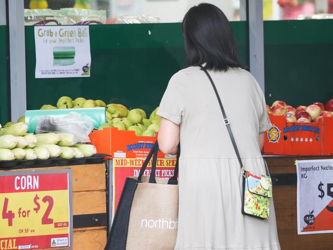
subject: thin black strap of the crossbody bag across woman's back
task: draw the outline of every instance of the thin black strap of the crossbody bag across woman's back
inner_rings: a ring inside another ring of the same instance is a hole
[[[207,75],[207,77],[208,77],[208,79],[209,79],[209,81],[211,83],[211,86],[214,89],[216,97],[218,98],[218,102],[220,104],[220,108],[221,108],[222,115],[223,115],[223,121],[224,121],[225,126],[227,127],[227,130],[228,130],[228,133],[229,133],[229,137],[230,137],[233,149],[236,152],[236,156],[237,156],[237,159],[238,159],[239,164],[241,166],[242,174],[243,174],[244,173],[244,167],[243,167],[243,163],[242,163],[242,160],[241,160],[241,156],[239,154],[239,151],[238,151],[238,148],[237,148],[237,145],[236,145],[236,141],[234,140],[234,137],[233,137],[233,134],[232,134],[232,131],[231,131],[231,127],[230,127],[230,122],[229,122],[229,119],[227,118],[227,115],[226,115],[225,110],[223,108],[219,92],[218,92],[218,90],[217,90],[217,88],[216,88],[213,80],[211,79],[211,76],[208,73],[208,71],[202,65],[200,65],[200,68],[206,73],[206,75]],[[264,162],[265,162],[265,160],[264,160]],[[265,162],[265,170],[266,170],[266,175],[269,175],[266,162]]]

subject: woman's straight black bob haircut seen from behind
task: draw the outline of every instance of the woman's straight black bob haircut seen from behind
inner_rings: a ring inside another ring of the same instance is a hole
[[[189,66],[206,63],[205,68],[214,71],[242,67],[230,23],[215,5],[200,4],[190,8],[182,28]]]

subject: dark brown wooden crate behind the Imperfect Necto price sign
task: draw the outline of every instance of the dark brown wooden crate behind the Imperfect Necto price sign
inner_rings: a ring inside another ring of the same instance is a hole
[[[285,174],[296,174],[295,160],[331,159],[325,156],[265,157],[270,174],[287,178]],[[289,175],[290,176],[290,175]],[[283,182],[283,180],[281,180]],[[274,182],[274,180],[273,180]],[[331,234],[297,234],[297,186],[273,186],[273,200],[277,218],[278,235],[283,250],[332,250]]]

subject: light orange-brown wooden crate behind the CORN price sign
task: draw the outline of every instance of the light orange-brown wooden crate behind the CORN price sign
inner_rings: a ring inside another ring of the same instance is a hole
[[[40,169],[72,169],[73,186],[73,249],[99,250],[106,245],[106,226],[75,227],[75,220],[89,218],[89,215],[106,217],[106,166],[105,164],[73,165],[13,169],[29,171]],[[89,224],[89,223],[87,223]],[[49,249],[60,249],[52,247]]]

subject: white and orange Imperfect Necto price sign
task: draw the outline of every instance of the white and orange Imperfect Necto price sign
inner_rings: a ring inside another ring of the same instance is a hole
[[[296,165],[298,234],[333,233],[333,159]]]

